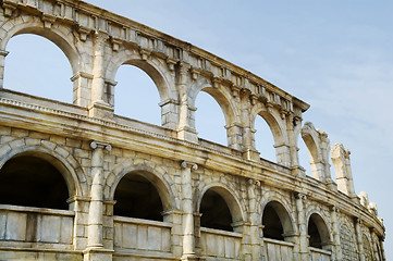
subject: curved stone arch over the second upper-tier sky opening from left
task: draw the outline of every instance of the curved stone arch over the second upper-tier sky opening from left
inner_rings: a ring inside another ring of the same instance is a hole
[[[161,102],[169,99],[177,100],[173,89],[175,84],[172,73],[169,72],[167,64],[157,58],[149,57],[144,60],[136,50],[121,49],[114,53],[113,58],[107,66],[107,78],[114,80],[119,67],[123,64],[134,65],[144,71],[155,82]]]

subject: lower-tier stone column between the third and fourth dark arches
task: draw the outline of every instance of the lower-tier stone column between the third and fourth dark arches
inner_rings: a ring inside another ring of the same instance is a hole
[[[250,236],[250,253],[251,260],[263,260],[265,254],[261,249],[263,246],[263,237],[260,235],[261,216],[257,210],[256,189],[260,185],[259,182],[248,179],[248,204],[249,204],[249,236]]]

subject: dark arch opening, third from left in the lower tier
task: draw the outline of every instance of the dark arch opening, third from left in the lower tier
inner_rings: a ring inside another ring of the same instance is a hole
[[[233,232],[232,214],[224,198],[213,189],[205,192],[199,208],[200,226]]]

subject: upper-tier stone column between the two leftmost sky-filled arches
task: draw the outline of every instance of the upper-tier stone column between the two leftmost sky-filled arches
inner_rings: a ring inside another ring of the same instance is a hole
[[[113,115],[113,107],[109,105],[106,97],[105,48],[108,39],[107,33],[101,30],[95,33],[90,116],[108,117]]]

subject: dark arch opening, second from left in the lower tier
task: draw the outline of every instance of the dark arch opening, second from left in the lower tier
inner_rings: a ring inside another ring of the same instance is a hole
[[[114,215],[163,221],[163,203],[159,189],[143,172],[122,177],[114,191]]]

